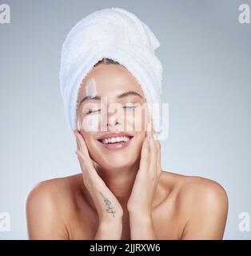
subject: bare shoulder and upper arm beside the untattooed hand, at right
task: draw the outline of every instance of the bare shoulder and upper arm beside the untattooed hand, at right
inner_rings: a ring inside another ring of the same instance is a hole
[[[175,194],[177,214],[185,223],[183,239],[221,239],[228,213],[225,189],[208,178],[164,174]]]

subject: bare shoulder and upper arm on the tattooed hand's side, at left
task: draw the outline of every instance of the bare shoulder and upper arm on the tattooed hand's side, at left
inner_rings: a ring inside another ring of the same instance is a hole
[[[39,182],[26,197],[30,239],[68,238],[66,218],[74,204],[78,175]]]

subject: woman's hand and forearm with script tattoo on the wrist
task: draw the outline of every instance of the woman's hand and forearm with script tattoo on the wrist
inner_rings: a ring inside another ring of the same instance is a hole
[[[105,234],[109,234],[110,232],[113,232],[113,230],[116,230],[119,237],[121,235],[119,233],[122,231],[122,206],[95,170],[94,162],[90,158],[90,154],[82,134],[80,134],[78,130],[74,130],[74,134],[78,145],[78,150],[75,153],[78,155],[84,184],[93,199],[96,210],[98,211],[99,226]],[[116,228],[116,223],[118,224],[118,229]],[[113,230],[107,230],[111,227],[113,227]],[[112,239],[116,239],[118,237],[114,238],[110,236]],[[102,239],[105,238],[107,238],[107,236],[102,237]]]

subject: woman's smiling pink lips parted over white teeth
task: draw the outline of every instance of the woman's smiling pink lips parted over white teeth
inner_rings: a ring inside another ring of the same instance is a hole
[[[132,134],[125,132],[107,133],[98,137],[98,142],[107,150],[122,150],[129,146],[129,142],[133,138]]]

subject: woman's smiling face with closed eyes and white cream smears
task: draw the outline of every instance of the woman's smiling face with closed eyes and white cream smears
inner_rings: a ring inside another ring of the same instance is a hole
[[[149,118],[145,96],[125,67],[99,64],[78,94],[78,130],[104,169],[132,166],[141,155]]]

